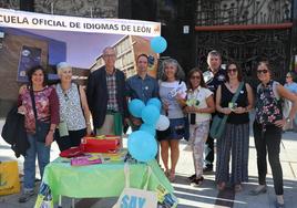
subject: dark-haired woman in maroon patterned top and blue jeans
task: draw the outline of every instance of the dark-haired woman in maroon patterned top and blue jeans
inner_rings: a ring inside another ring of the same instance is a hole
[[[55,126],[59,123],[59,100],[54,87],[47,85],[47,74],[42,66],[28,72],[29,85],[20,90],[19,113],[24,114],[24,127],[30,144],[23,163],[23,194],[19,202],[28,201],[34,195],[35,157],[41,177],[50,163],[50,149]],[[44,134],[38,128],[44,126]]]

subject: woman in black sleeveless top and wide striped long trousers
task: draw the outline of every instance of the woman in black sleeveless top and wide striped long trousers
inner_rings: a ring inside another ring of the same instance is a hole
[[[227,65],[226,83],[216,91],[216,110],[223,117],[228,115],[225,131],[217,139],[216,183],[219,190],[224,190],[227,183],[234,186],[235,191],[242,190],[242,183],[248,180],[248,138],[249,117],[253,108],[253,91],[249,84],[244,83],[238,65],[231,62]],[[233,96],[239,90],[237,100],[232,103]],[[232,155],[232,174],[229,176],[229,157]]]

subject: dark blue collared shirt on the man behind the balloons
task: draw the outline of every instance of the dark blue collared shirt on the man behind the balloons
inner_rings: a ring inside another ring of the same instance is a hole
[[[132,100],[139,98],[146,103],[150,98],[158,96],[157,81],[150,75],[145,75],[143,80],[136,74],[127,79],[126,92]]]

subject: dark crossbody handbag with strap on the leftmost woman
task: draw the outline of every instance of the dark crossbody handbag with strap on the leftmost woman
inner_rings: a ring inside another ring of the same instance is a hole
[[[35,106],[35,98],[34,93],[30,91],[31,100],[32,100],[32,107],[35,117],[35,137],[38,142],[45,143],[45,137],[50,131],[51,124],[49,122],[43,122],[38,119],[37,115],[37,106]]]

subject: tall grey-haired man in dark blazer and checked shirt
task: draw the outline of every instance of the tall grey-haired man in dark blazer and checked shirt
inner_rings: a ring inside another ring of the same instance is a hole
[[[114,67],[113,48],[103,50],[105,65],[90,74],[86,100],[96,135],[122,135],[124,118],[129,117],[125,98],[125,75]]]

